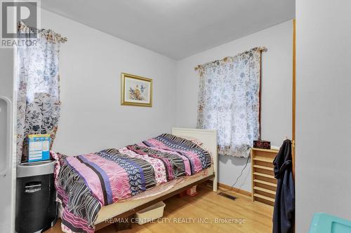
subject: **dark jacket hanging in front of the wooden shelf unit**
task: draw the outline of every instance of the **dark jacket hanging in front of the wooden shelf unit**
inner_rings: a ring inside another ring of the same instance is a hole
[[[295,221],[295,185],[290,140],[284,141],[273,164],[274,176],[278,180],[274,202],[273,233],[292,233]]]

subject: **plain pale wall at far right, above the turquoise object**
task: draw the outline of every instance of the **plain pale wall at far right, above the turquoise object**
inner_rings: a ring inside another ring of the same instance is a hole
[[[296,1],[296,223],[351,220],[351,1]]]

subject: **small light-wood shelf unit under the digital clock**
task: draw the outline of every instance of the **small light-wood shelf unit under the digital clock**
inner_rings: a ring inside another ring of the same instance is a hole
[[[277,179],[274,178],[273,160],[278,150],[251,149],[252,201],[274,206]]]

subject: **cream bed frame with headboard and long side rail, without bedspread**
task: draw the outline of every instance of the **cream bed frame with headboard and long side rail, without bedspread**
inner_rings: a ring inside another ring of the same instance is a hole
[[[166,136],[169,135],[170,134]],[[101,208],[98,210],[97,216],[93,220],[93,224],[90,226],[91,228],[89,228],[89,230],[85,230],[84,232],[94,232],[94,230],[100,230],[101,228],[106,227],[107,225],[116,223],[116,220],[118,220],[119,218],[126,218],[128,216],[131,216],[137,211],[145,209],[148,206],[151,206],[152,204],[160,202],[164,199],[168,199],[173,195],[183,192],[184,190],[187,190],[188,188],[191,188],[194,185],[198,185],[199,183],[203,183],[204,181],[208,181],[210,179],[213,180],[213,191],[217,191],[218,154],[216,130],[173,128],[171,135],[180,138],[192,138],[201,141],[201,148],[206,150],[211,155],[211,166],[201,169],[201,171],[197,171],[196,173],[191,174],[191,176],[181,176],[173,178],[171,181],[154,186],[154,188],[145,190],[144,192],[138,193],[138,195],[135,195],[133,197],[120,199],[118,202],[114,202],[113,204],[102,205]],[[59,194],[60,192],[58,190],[58,196],[60,196]],[[64,199],[62,196],[58,198],[58,202],[62,203],[62,199]],[[87,207],[87,209],[88,208],[89,207]],[[60,212],[62,213],[61,205]],[[75,221],[79,221],[79,219],[74,219],[71,222],[74,223]],[[69,223],[67,223],[67,221],[64,221],[63,219],[62,230],[64,232],[74,232],[72,230],[72,227],[69,226]]]

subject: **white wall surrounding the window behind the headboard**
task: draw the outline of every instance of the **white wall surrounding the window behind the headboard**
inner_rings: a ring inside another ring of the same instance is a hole
[[[195,66],[265,46],[268,50],[263,53],[262,139],[280,146],[285,135],[291,136],[292,26],[289,20],[178,61],[178,127],[195,127],[197,123],[199,78]],[[220,156],[219,182],[232,185],[245,163],[244,158]],[[237,184],[237,187],[251,192],[250,164]]]

